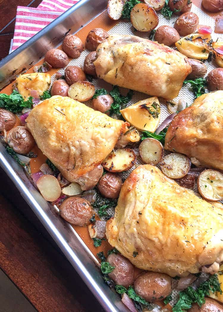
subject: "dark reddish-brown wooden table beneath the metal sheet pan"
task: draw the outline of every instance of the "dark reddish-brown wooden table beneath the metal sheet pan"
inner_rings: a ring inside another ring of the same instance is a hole
[[[0,60],[9,51],[17,5],[40,2],[0,0]],[[0,268],[18,289],[40,312],[104,311],[2,169],[0,190]]]

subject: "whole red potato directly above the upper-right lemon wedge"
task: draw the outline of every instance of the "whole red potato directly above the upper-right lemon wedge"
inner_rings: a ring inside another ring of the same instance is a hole
[[[179,16],[174,24],[174,28],[180,36],[187,36],[195,32],[199,23],[199,17],[193,12],[186,12]]]

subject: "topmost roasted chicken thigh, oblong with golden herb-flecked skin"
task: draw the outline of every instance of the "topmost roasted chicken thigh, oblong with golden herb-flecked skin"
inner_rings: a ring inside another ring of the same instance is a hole
[[[110,35],[97,47],[99,78],[120,87],[174,99],[192,69],[187,57],[136,36]]]

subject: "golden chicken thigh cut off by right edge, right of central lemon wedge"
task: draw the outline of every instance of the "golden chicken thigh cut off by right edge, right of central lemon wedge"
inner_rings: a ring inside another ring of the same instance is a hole
[[[223,169],[223,91],[201,95],[171,122],[165,149]]]

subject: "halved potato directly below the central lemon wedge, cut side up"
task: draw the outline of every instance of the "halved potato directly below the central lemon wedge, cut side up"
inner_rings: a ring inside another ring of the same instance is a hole
[[[163,151],[162,144],[156,139],[144,139],[139,145],[139,153],[142,161],[151,165],[161,162]]]

